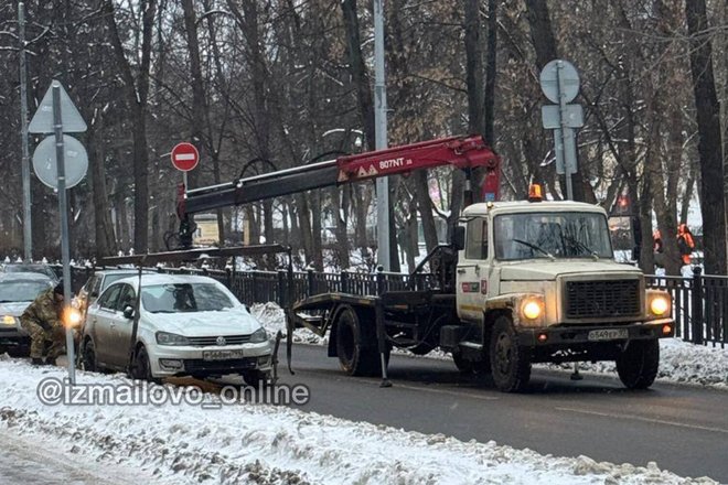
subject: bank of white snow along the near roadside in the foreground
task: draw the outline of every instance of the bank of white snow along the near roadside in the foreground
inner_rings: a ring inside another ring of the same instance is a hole
[[[0,434],[73,454],[79,468],[122,466],[144,483],[150,476],[160,484],[716,483],[683,478],[654,463],[640,467],[540,455],[285,407],[42,405],[41,379],[64,376],[61,368],[0,358]],[[128,382],[119,375],[83,371],[77,380]]]

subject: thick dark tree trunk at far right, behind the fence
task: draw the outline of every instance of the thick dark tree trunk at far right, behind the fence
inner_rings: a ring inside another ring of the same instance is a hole
[[[698,126],[703,247],[705,272],[726,273],[726,202],[724,195],[720,105],[713,76],[711,43],[705,39],[708,21],[705,0],[686,0],[685,14],[690,35],[690,72]]]

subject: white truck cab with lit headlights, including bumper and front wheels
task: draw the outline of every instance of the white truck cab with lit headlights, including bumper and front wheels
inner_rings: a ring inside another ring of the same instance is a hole
[[[674,332],[671,298],[614,261],[604,209],[473,204],[457,234],[460,324],[441,335],[458,367],[490,370],[505,391],[523,389],[531,364],[545,362],[614,360],[627,387],[653,382],[657,340]]]

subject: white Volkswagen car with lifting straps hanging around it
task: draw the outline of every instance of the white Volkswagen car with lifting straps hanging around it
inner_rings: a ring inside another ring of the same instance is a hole
[[[82,355],[88,370],[127,370],[139,278],[114,282],[88,308]],[[207,277],[143,274],[130,366],[136,378],[236,374],[270,377],[266,330],[222,283]]]

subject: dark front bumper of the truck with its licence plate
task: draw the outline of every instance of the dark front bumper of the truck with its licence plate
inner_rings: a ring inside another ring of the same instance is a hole
[[[675,336],[672,319],[627,325],[555,325],[540,328],[518,328],[518,344],[528,347],[569,346],[601,342],[625,342],[635,340],[667,338]]]

